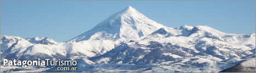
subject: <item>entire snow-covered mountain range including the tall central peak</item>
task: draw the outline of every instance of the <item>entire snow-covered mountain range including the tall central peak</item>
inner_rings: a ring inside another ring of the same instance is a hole
[[[1,65],[1,72],[219,72],[253,58],[255,71],[255,41],[254,33],[209,26],[170,28],[129,6],[67,42],[1,35],[1,59],[73,59],[77,71]]]

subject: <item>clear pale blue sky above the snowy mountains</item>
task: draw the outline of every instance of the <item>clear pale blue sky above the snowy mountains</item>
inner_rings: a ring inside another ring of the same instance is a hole
[[[255,33],[255,1],[1,1],[1,35],[68,41],[129,5],[169,27]]]

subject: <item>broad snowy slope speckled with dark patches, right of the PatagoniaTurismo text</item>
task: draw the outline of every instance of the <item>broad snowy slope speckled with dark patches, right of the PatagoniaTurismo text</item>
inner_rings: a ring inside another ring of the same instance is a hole
[[[127,42],[89,59],[107,64],[156,64],[172,71],[216,72],[225,69],[223,64],[226,67],[238,64],[240,58],[253,54],[252,49],[205,37],[151,37]],[[237,59],[222,62],[232,58]]]

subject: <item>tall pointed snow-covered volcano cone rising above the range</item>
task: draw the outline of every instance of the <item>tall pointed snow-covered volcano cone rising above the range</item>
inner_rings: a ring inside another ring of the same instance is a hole
[[[127,39],[139,39],[139,37],[147,36],[162,27],[164,25],[152,21],[136,9],[128,6],[126,9],[99,23],[91,30],[71,39],[71,41],[115,40],[119,38],[126,41]]]

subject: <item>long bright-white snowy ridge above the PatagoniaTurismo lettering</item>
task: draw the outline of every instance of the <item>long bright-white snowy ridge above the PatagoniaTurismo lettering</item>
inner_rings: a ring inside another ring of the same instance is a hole
[[[1,54],[2,57],[20,60],[32,60],[37,58],[86,58],[97,54],[100,55],[114,48],[114,42],[107,40],[56,43],[48,38],[34,41],[32,38],[24,39],[20,37],[4,36],[1,42],[1,51],[3,51]]]

